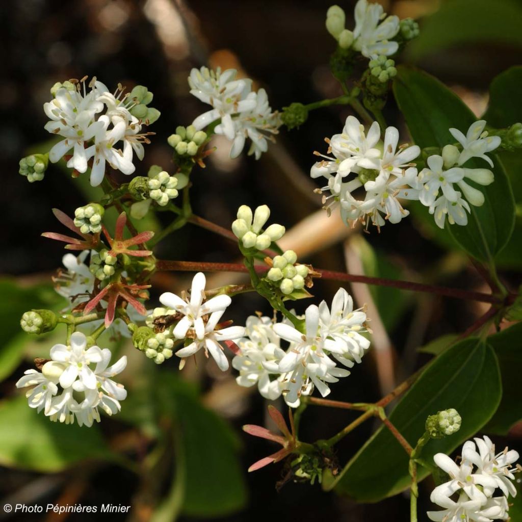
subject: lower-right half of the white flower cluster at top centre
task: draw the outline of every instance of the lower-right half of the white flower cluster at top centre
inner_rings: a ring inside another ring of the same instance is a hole
[[[248,93],[246,99],[254,100],[256,105],[251,111],[245,111],[233,118],[234,138],[230,157],[237,158],[245,146],[246,138],[250,138],[252,145],[248,150],[248,155],[254,154],[258,160],[268,149],[267,140],[274,141],[273,135],[278,134],[281,120],[277,112],[272,112],[265,89]],[[228,129],[223,123],[215,128],[216,134],[229,137],[226,132]]]

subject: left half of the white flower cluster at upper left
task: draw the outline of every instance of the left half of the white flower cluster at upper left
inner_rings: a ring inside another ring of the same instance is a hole
[[[45,124],[45,130],[65,137],[49,151],[51,162],[56,163],[74,147],[73,157],[67,162],[67,167],[85,172],[88,156],[84,144],[101,127],[101,124],[94,122],[94,116],[103,110],[103,103],[97,98],[107,88],[96,81],[96,78],[90,82],[89,92],[86,91],[85,81],[81,82],[81,85],[83,92],[80,83],[76,85],[75,90],[58,89],[56,97],[44,103],[43,110],[51,120]]]

